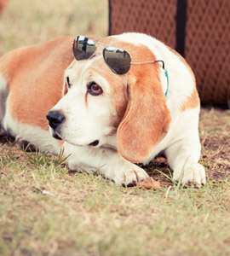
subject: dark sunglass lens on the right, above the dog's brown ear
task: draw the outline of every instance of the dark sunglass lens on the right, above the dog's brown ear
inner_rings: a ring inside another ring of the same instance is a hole
[[[124,49],[115,47],[106,47],[103,50],[103,56],[108,67],[113,73],[124,74],[129,71],[131,57]]]

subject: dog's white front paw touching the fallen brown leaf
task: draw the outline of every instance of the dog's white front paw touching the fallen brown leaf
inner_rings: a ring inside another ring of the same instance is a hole
[[[134,186],[148,177],[147,172],[135,164],[112,168],[103,173],[106,178],[119,185]]]

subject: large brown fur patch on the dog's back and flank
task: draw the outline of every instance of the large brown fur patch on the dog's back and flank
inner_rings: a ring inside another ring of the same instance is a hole
[[[48,130],[45,116],[61,98],[63,73],[73,59],[71,46],[72,37],[57,38],[3,56],[0,70],[4,66],[7,74],[13,119]]]

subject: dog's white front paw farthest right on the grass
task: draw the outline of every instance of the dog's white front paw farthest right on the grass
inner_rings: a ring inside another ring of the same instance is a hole
[[[182,184],[194,183],[201,184],[206,183],[204,166],[198,163],[188,163],[183,167],[181,172],[175,172],[173,179],[180,181]]]

